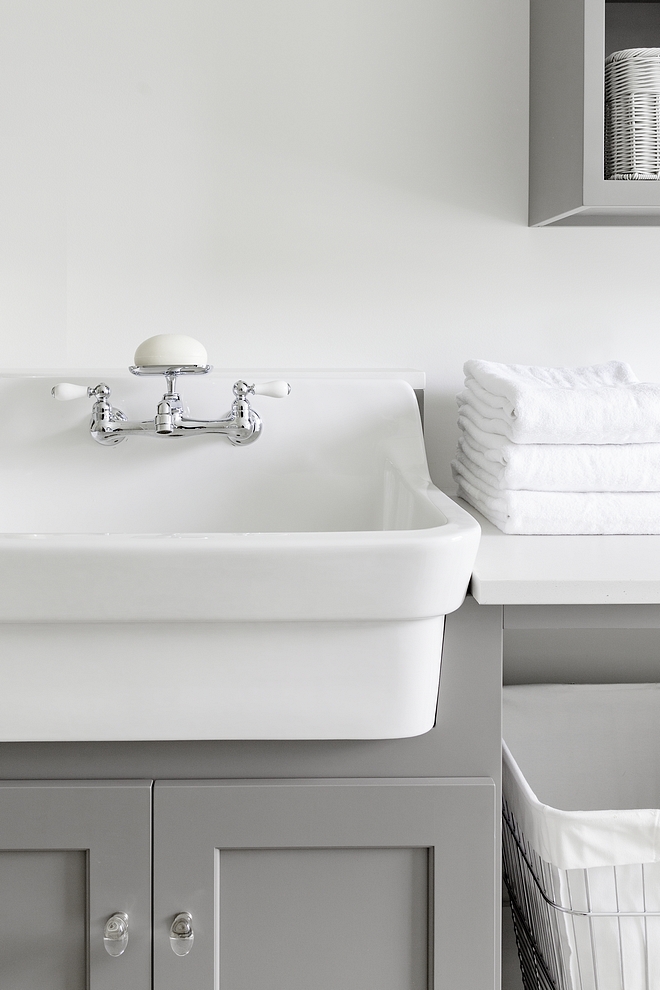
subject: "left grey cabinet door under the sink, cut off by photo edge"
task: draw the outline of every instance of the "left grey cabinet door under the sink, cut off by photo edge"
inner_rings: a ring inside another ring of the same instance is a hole
[[[119,911],[129,942],[111,958]],[[151,781],[0,783],[0,986],[149,990]]]

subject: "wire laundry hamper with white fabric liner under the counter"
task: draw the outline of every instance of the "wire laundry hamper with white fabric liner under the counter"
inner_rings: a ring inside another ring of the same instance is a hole
[[[503,757],[526,990],[659,990],[660,685],[506,687]]]

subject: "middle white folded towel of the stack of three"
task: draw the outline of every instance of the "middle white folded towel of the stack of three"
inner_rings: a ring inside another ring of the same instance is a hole
[[[457,460],[495,490],[660,490],[660,443],[516,444],[497,434],[476,431],[463,417],[459,426],[463,432]],[[498,444],[502,440],[505,442]]]

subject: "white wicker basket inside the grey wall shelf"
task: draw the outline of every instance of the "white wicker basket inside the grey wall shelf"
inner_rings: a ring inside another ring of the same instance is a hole
[[[660,179],[660,48],[605,60],[605,178]]]

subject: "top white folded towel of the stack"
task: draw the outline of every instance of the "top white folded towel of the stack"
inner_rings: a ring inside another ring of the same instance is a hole
[[[536,368],[467,361],[461,414],[514,443],[660,442],[660,385],[618,361]]]

